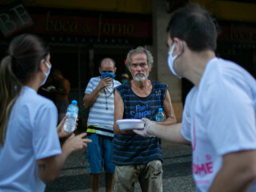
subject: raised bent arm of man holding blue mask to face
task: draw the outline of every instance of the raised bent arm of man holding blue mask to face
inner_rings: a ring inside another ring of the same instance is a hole
[[[91,92],[91,94],[85,94],[83,97],[83,106],[88,108],[94,104],[96,99],[98,98],[98,93],[104,89],[106,86],[110,86],[112,83],[112,79],[110,77],[102,78],[101,81],[98,83],[98,86]]]

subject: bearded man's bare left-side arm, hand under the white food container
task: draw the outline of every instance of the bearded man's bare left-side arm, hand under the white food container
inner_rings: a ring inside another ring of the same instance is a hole
[[[115,123],[117,120],[123,118],[124,104],[118,91],[114,90],[114,134],[133,134],[132,130],[120,130]]]

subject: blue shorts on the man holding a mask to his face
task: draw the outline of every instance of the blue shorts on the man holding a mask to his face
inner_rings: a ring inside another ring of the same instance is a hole
[[[90,173],[102,173],[102,162],[106,173],[114,174],[113,159],[113,138],[98,134],[88,134],[92,142],[87,143],[86,158],[90,162]]]

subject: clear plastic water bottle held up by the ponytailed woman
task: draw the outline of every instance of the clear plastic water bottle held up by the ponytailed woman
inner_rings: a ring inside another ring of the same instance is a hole
[[[66,119],[66,122],[64,123],[64,130],[66,132],[74,131],[78,118],[77,104],[78,102],[76,100],[73,100],[71,104],[67,107],[66,114],[69,115],[69,117]]]

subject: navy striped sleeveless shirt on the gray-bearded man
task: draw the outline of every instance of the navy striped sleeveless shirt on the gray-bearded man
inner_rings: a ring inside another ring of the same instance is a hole
[[[123,118],[149,118],[155,120],[158,108],[163,108],[167,85],[152,82],[149,96],[142,98],[131,90],[130,82],[116,87],[124,102]],[[113,162],[117,166],[148,163],[154,159],[162,160],[161,140],[157,137],[144,138],[138,134],[114,134]]]

